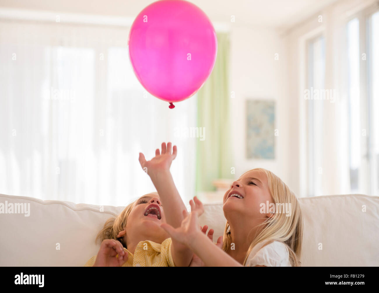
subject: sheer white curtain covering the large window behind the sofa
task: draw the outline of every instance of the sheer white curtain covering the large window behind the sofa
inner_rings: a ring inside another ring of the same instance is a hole
[[[196,96],[169,109],[136,79],[128,28],[0,22],[0,193],[126,205],[154,191],[138,153],[172,141],[183,200],[194,194]]]

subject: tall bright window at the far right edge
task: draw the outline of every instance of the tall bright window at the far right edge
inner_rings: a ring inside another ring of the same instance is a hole
[[[379,12],[347,24],[351,193],[379,194]]]

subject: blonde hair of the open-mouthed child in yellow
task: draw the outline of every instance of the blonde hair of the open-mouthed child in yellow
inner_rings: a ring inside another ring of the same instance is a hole
[[[102,242],[104,239],[115,239],[122,243],[122,246],[126,247],[125,237],[118,237],[117,235],[124,230],[126,223],[128,221],[128,216],[133,209],[134,202],[130,203],[117,217],[113,216],[106,220],[104,227],[97,233],[95,241],[100,240]]]

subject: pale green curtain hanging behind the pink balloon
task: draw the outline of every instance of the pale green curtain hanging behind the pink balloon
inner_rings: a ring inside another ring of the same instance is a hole
[[[197,140],[196,191],[212,191],[212,181],[233,178],[233,138],[230,132],[229,33],[217,33],[217,58],[213,71],[197,92],[197,126],[205,128],[204,140]],[[204,129],[203,128],[203,129]]]

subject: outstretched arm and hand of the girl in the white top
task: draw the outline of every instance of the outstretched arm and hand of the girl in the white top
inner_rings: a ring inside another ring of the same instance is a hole
[[[219,247],[216,247],[209,238],[199,230],[198,218],[204,212],[203,204],[197,197],[189,202],[191,213],[183,210],[183,220],[179,228],[169,224],[161,224],[161,227],[169,233],[172,239],[187,245],[206,266],[243,266]],[[220,241],[220,240],[219,240]],[[219,242],[218,241],[218,242]]]

